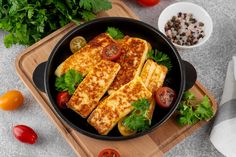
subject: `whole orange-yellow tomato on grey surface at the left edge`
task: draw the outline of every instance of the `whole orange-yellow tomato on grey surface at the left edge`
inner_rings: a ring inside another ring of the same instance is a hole
[[[0,108],[3,110],[15,110],[24,102],[24,96],[20,91],[10,90],[0,97]]]

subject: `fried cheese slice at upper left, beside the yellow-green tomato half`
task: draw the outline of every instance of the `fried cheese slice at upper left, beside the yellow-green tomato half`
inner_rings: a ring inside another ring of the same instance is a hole
[[[61,76],[69,69],[74,69],[85,76],[96,64],[101,61],[104,47],[115,41],[106,33],[99,34],[78,52],[71,55],[61,63],[56,71],[56,76]]]

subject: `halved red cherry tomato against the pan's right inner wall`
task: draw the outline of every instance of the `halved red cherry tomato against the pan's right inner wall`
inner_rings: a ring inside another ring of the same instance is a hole
[[[156,103],[163,108],[168,108],[174,101],[176,94],[175,91],[169,87],[160,87],[155,91]]]

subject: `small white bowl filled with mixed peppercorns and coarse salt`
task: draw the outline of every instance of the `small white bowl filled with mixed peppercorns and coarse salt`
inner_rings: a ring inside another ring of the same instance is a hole
[[[162,11],[158,28],[176,47],[193,48],[209,39],[213,23],[202,7],[189,2],[178,2]]]

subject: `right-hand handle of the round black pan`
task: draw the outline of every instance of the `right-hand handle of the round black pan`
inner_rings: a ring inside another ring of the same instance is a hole
[[[193,85],[195,84],[196,80],[197,80],[197,71],[194,68],[194,66],[183,60],[183,66],[185,69],[185,91],[189,90],[190,88],[193,87]]]

